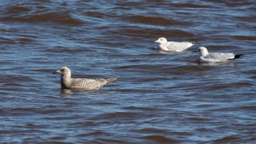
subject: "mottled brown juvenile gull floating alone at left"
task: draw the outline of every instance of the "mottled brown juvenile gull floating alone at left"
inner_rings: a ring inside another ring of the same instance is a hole
[[[79,78],[73,79],[71,77],[71,71],[68,67],[61,67],[56,72],[52,74],[61,74],[60,84],[63,89],[72,89],[72,90],[99,90],[102,86],[115,81],[116,78],[111,79],[88,79],[88,78]]]

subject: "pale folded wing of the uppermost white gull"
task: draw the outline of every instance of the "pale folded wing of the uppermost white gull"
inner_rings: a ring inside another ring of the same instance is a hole
[[[189,47],[193,46],[194,44],[191,42],[168,42],[167,47],[172,51],[184,51]]]

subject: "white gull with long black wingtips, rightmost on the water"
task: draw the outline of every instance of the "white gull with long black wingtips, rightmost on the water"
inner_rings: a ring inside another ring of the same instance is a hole
[[[206,47],[198,47],[196,51],[198,52],[198,61],[205,63],[218,63],[233,60],[236,58],[241,58],[244,54],[233,54],[233,53],[209,53]]]

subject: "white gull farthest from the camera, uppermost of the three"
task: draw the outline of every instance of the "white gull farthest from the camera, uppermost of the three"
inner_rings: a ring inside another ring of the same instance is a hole
[[[196,42],[167,42],[166,38],[158,38],[155,43],[159,43],[159,47],[163,51],[181,52],[196,44]]]

